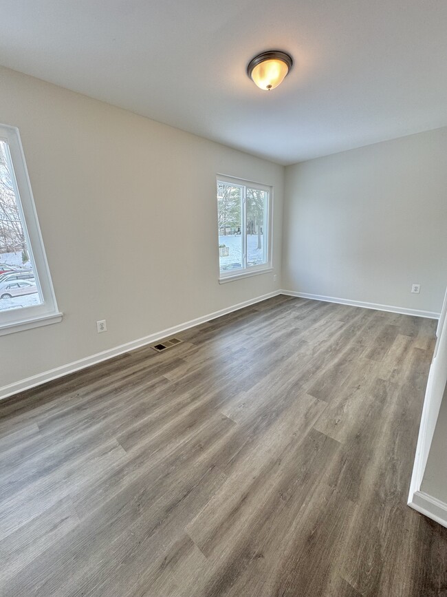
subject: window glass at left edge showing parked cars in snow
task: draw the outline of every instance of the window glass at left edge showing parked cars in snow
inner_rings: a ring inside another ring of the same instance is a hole
[[[43,304],[34,278],[23,287],[8,284],[19,272],[35,271],[16,189],[8,143],[0,140],[0,312]]]

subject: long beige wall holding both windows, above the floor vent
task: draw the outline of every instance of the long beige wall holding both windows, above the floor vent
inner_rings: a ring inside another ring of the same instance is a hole
[[[0,122],[65,314],[0,337],[0,387],[279,289],[283,167],[3,68]],[[274,272],[219,284],[217,173],[274,186]]]

